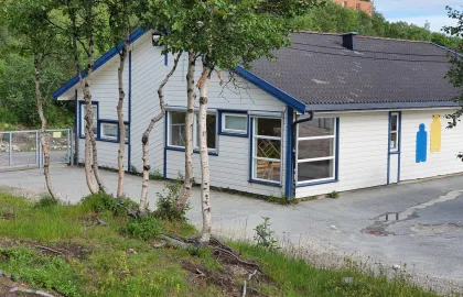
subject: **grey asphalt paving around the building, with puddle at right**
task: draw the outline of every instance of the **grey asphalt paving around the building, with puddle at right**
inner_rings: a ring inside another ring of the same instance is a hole
[[[77,202],[88,194],[82,168],[52,168],[52,176],[66,201]],[[103,172],[103,177],[115,191],[117,174]],[[45,190],[40,169],[0,173],[1,186]],[[139,199],[141,178],[126,176],[125,187],[129,197]],[[150,182],[151,206],[162,189],[162,182]],[[193,189],[191,205],[189,218],[201,226],[198,188]],[[406,264],[424,285],[433,286],[434,278],[437,286],[463,285],[463,176],[344,193],[338,199],[295,206],[213,191],[212,210],[216,233],[250,239],[261,217],[269,217],[281,241],[317,262],[357,255],[387,267]]]

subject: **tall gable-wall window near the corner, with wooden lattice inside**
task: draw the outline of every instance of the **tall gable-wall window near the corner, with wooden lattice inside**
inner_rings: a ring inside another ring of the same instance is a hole
[[[254,118],[252,179],[281,182],[281,119]]]

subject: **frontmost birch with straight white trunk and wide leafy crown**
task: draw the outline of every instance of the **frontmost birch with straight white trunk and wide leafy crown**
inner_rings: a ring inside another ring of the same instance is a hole
[[[166,52],[192,52],[195,57],[201,57],[203,63],[198,82],[203,211],[203,231],[200,241],[203,245],[208,244],[212,229],[205,130],[211,75],[216,68],[228,70],[238,65],[249,67],[252,61],[262,56],[274,58],[273,50],[291,43],[290,34],[293,31],[294,18],[305,13],[317,2],[317,0],[151,0],[143,10],[144,22],[157,30],[169,32],[161,38]]]

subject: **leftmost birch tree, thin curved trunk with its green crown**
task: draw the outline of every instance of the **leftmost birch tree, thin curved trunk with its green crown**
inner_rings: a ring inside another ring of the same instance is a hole
[[[8,25],[12,32],[23,36],[21,51],[30,52],[33,56],[35,99],[41,121],[40,143],[43,152],[43,173],[50,196],[57,200],[50,176],[50,148],[45,139],[46,119],[43,111],[41,92],[42,65],[57,47],[55,30],[46,22],[47,14],[53,9],[50,1],[24,0],[7,4]]]

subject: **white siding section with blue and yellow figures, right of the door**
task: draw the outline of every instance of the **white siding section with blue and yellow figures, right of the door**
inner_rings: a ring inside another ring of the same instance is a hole
[[[456,158],[456,154],[462,151],[463,123],[453,129],[446,129],[445,114],[453,110],[423,110],[423,111],[402,111],[402,147],[400,179],[416,179],[438,175],[446,175],[463,172],[463,163]],[[441,116],[441,152],[430,152],[430,136],[432,114]],[[427,162],[416,163],[417,132],[420,123],[426,125],[428,132]]]

